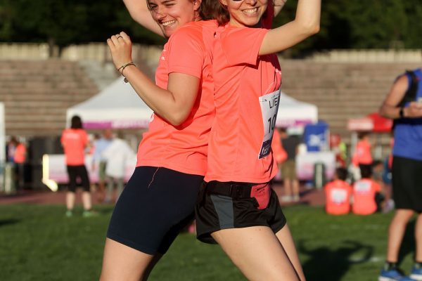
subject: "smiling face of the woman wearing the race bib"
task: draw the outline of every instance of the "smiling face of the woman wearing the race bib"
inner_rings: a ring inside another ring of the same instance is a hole
[[[268,0],[220,0],[230,14],[230,25],[255,27],[267,11]]]

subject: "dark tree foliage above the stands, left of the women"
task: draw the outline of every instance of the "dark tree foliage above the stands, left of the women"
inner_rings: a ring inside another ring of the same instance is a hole
[[[135,23],[122,0],[0,0],[0,41],[63,47],[105,42],[122,30],[144,44],[163,41]]]

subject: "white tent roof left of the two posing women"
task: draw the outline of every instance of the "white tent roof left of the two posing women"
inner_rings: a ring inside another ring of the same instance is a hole
[[[152,113],[132,86],[120,77],[96,96],[70,107],[66,115],[68,120],[79,115],[85,129],[122,129],[148,127]]]

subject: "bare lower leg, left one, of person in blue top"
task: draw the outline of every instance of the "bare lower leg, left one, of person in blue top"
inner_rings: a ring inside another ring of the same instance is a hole
[[[406,230],[407,223],[413,214],[414,211],[408,209],[396,210],[396,213],[391,220],[390,227],[388,228],[387,261],[392,263],[397,262],[404,231]]]

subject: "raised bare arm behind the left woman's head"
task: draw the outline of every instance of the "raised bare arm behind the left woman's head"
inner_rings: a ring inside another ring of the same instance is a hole
[[[146,6],[146,1],[147,0],[123,0],[127,11],[129,11],[130,15],[136,22],[145,27],[147,30],[151,30],[151,32],[164,37],[164,34],[162,34],[162,30],[158,26],[157,22],[153,20],[151,12]]]

